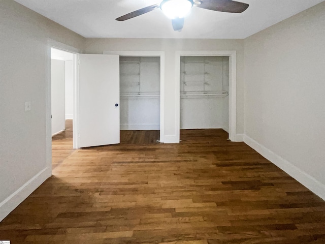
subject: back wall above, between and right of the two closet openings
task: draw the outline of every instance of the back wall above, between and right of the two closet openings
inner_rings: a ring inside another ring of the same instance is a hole
[[[244,41],[214,39],[97,39],[87,38],[85,53],[103,53],[104,51],[164,51],[165,52],[165,137],[178,135],[175,121],[175,94],[179,94],[176,83],[176,52],[182,50],[236,50],[237,51],[237,133],[244,132]],[[179,71],[177,72],[179,73]]]

